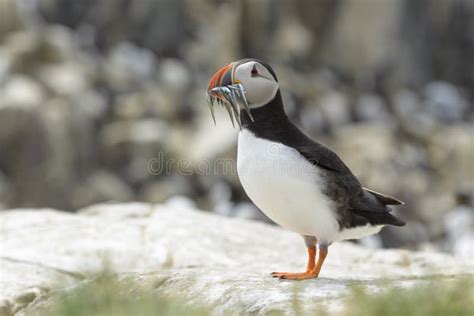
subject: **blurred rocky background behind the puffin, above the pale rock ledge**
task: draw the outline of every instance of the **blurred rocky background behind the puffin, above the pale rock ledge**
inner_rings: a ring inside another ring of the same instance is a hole
[[[472,0],[0,0],[0,209],[268,221],[235,172],[202,174],[238,133],[213,125],[208,80],[256,57],[298,126],[406,202],[406,227],[363,243],[473,258],[473,56]]]

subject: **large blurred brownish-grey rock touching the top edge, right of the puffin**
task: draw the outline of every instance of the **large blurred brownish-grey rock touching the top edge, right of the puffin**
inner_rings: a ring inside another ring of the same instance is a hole
[[[403,6],[397,2],[345,2],[334,12],[334,27],[322,50],[324,60],[354,77],[375,71],[393,58]]]

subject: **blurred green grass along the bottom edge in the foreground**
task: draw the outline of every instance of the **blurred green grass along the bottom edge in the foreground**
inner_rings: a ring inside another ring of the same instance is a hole
[[[52,295],[47,303],[27,313],[35,316],[204,316],[213,313],[204,308],[189,307],[185,300],[158,294],[162,282],[143,285],[104,273],[93,281],[70,291]],[[341,316],[398,315],[474,315],[474,280],[436,279],[410,288],[394,288],[373,294],[355,287],[348,296]],[[304,302],[294,302],[294,314]],[[236,311],[239,313],[239,311]],[[235,313],[232,313],[233,315]],[[272,315],[279,315],[278,311]],[[316,315],[330,315],[320,310]]]

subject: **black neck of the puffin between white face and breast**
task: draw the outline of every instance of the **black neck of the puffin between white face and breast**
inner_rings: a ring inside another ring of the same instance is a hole
[[[240,110],[240,120],[242,128],[253,132],[256,136],[274,138],[285,129],[294,127],[283,108],[280,90],[272,101],[264,106],[251,109],[250,112],[254,118],[253,122],[245,110]]]

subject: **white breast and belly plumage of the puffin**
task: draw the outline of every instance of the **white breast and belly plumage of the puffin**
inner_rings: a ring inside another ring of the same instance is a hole
[[[295,149],[239,134],[237,170],[250,199],[274,222],[322,242],[338,240],[339,225],[331,201],[322,193],[318,169]]]

